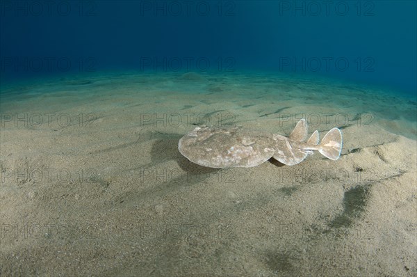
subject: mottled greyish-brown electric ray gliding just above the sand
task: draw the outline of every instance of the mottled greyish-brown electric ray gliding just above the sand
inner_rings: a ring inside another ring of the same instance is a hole
[[[293,166],[313,154],[313,150],[332,160],[340,157],[343,145],[340,129],[331,129],[320,144],[318,131],[308,140],[307,136],[304,118],[288,137],[243,127],[196,127],[179,140],[178,149],[193,163],[211,168],[258,166],[271,157]]]

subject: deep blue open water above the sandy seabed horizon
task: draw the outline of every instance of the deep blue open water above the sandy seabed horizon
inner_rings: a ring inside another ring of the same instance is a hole
[[[416,1],[0,3],[3,82],[100,70],[273,70],[417,91]]]

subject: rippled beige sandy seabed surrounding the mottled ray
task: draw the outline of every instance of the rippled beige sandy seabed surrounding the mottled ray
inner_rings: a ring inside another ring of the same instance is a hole
[[[1,90],[1,276],[417,276],[416,100],[273,74]],[[343,132],[341,158],[204,168],[197,125]]]

